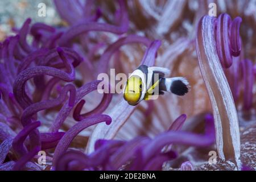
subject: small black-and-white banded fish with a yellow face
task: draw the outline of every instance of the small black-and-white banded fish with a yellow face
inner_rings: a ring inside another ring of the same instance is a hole
[[[163,95],[164,91],[177,96],[188,93],[189,83],[184,77],[164,78],[170,70],[162,67],[141,65],[129,76],[123,88],[123,98],[130,105],[137,105],[151,96]]]

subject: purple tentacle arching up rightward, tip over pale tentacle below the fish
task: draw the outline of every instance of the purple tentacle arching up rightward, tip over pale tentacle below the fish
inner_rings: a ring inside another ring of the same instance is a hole
[[[57,144],[53,154],[53,166],[55,165],[57,159],[68,149],[69,144],[76,137],[76,135],[78,135],[82,130],[101,122],[106,122],[107,125],[110,125],[111,121],[112,119],[108,115],[99,114],[94,115],[93,117],[85,118],[84,120],[76,123],[76,125],[72,126],[71,129],[69,129],[64,134],[64,136],[60,139],[60,142]]]

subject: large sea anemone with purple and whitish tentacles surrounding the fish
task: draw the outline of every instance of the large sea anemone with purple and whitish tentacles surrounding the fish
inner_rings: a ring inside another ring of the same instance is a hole
[[[0,42],[0,170],[256,169],[253,1],[53,4]],[[131,106],[97,79],[142,64],[191,90]]]

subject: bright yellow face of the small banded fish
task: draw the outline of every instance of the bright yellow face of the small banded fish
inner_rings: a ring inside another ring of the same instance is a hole
[[[127,80],[127,85],[123,97],[130,105],[137,105],[142,93],[142,80],[139,77],[131,76]]]

